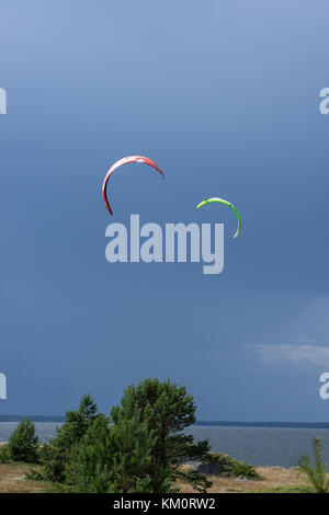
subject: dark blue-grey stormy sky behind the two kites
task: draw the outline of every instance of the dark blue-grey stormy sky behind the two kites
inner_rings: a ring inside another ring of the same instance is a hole
[[[328,421],[326,0],[0,0],[0,413],[170,378],[198,420]],[[111,179],[117,159],[152,158]],[[206,196],[228,198],[236,218]],[[222,222],[225,267],[109,263],[112,221]]]

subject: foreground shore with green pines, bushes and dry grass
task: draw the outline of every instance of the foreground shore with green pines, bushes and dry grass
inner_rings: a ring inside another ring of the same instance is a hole
[[[308,456],[300,457],[298,467],[256,467],[184,434],[186,427],[202,425],[195,411],[185,387],[155,378],[131,385],[110,415],[99,412],[89,394],[82,397],[48,443],[38,440],[31,419],[21,420],[9,442],[0,444],[0,492],[329,491],[320,438],[314,439],[315,467]]]

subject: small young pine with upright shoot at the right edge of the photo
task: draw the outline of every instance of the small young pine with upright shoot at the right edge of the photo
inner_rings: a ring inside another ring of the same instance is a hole
[[[314,438],[315,466],[310,464],[309,456],[302,456],[299,467],[305,472],[316,493],[329,492],[329,480],[327,480],[327,465],[322,462],[321,438]]]

